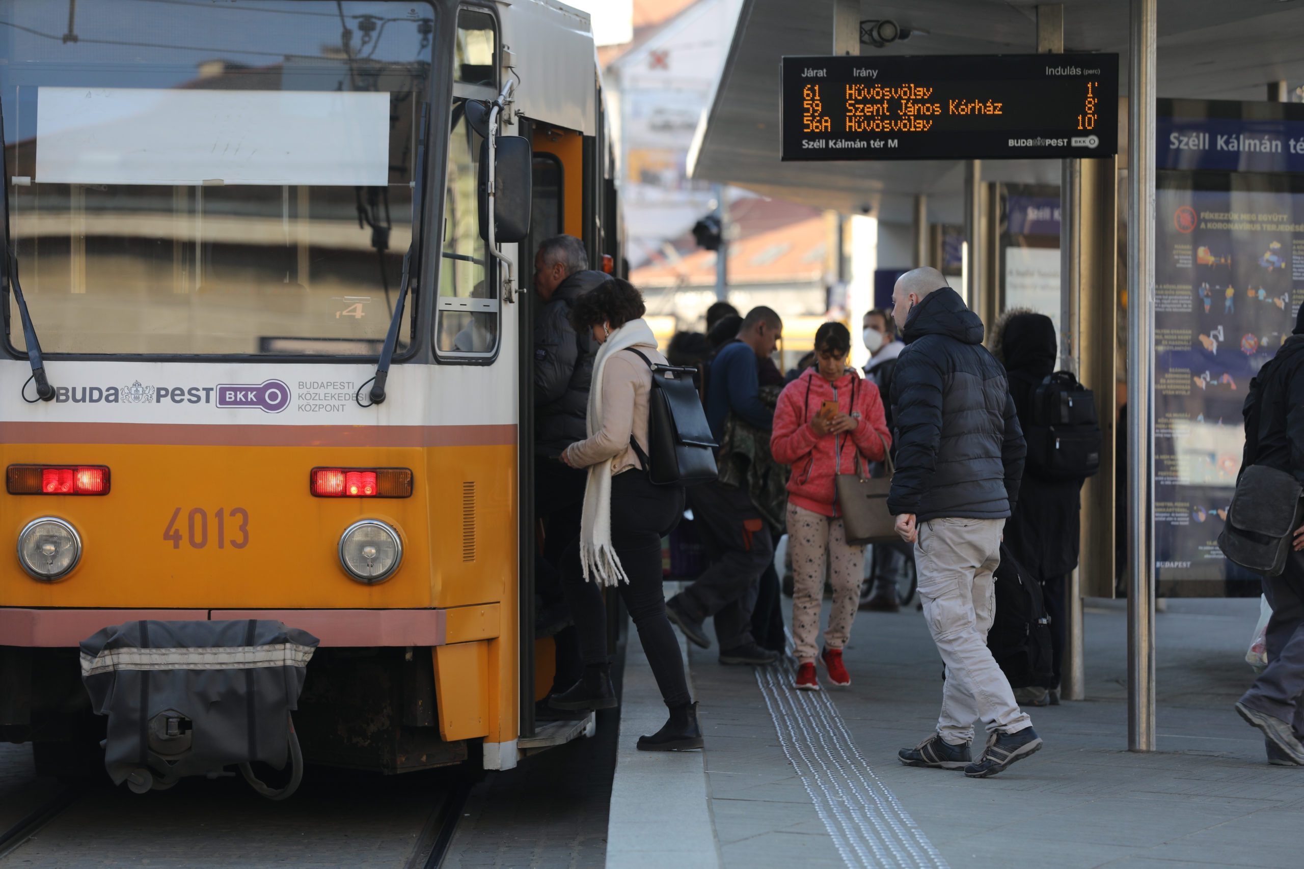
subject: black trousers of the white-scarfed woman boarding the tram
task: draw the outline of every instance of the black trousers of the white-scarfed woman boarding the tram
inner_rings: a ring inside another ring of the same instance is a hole
[[[661,589],[661,538],[674,529],[681,516],[682,487],[653,486],[638,469],[612,478],[612,546],[630,578],[618,588],[666,706],[682,706],[692,700],[683,675],[679,641],[665,616]],[[562,555],[562,591],[575,619],[584,663],[608,663],[606,607],[597,584],[584,580],[579,541]]]

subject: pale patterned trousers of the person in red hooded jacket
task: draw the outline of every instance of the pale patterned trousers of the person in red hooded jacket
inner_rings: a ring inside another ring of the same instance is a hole
[[[824,645],[841,649],[852,634],[865,576],[865,547],[846,542],[841,517],[823,516],[788,503],[788,551],[793,558],[793,644],[797,661],[819,654],[819,614],[824,601],[824,559],[829,560],[833,611]]]

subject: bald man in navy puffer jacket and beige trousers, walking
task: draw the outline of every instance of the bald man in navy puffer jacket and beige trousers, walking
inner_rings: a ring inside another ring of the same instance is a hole
[[[982,321],[941,272],[906,272],[892,301],[906,348],[892,383],[897,464],[888,509],[901,538],[914,543],[923,616],[947,667],[938,731],[898,757],[906,766],[986,778],[1042,747],[987,649],[992,573],[1028,449],[1005,369],[982,345]],[[971,760],[975,719],[990,735]]]

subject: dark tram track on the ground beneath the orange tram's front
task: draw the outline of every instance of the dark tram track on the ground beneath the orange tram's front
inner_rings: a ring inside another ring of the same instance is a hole
[[[372,776],[312,770],[309,787],[267,803],[233,779],[185,780],[167,795],[104,783],[31,780],[0,823],[0,866],[155,865],[271,869],[366,864],[438,869],[458,833],[473,773]],[[200,856],[202,855],[202,856]]]

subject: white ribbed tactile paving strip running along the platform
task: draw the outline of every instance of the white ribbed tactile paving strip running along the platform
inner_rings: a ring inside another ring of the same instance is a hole
[[[938,849],[861,756],[827,692],[795,691],[790,655],[756,667],[756,684],[788,761],[848,866],[948,869]]]

